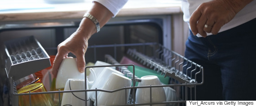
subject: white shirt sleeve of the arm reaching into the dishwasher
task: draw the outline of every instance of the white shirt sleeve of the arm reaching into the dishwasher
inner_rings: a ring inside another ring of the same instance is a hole
[[[93,2],[94,1],[108,8],[110,12],[114,14],[113,17],[115,17],[116,14],[120,11],[121,8],[123,8],[124,4],[126,4],[128,0],[93,0]]]

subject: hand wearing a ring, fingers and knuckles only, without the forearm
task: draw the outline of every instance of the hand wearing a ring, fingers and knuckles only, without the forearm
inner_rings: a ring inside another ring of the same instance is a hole
[[[191,15],[190,29],[194,35],[199,33],[202,37],[206,37],[207,33],[217,34],[221,27],[228,22],[226,18],[223,18],[226,15],[229,15],[229,12],[221,9],[219,2],[203,3]]]

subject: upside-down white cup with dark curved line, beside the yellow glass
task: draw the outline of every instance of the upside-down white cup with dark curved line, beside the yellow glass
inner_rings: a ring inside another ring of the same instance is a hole
[[[88,82],[88,79],[86,78]],[[85,90],[84,79],[68,79],[64,90]],[[86,83],[86,89],[88,90],[88,83]],[[63,93],[61,106],[89,106],[89,92],[87,92],[87,98],[85,98],[85,92],[68,92]]]

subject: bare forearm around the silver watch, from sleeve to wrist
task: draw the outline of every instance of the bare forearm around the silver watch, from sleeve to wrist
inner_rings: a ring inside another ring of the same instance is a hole
[[[88,10],[88,13],[90,13],[99,21],[101,28],[107,23],[108,20],[110,20],[112,16],[114,16],[112,12],[110,12],[106,7],[98,2],[93,2],[93,6]],[[92,20],[84,17],[81,20],[77,31],[83,33],[84,38],[88,40],[94,33],[97,32],[97,29]]]

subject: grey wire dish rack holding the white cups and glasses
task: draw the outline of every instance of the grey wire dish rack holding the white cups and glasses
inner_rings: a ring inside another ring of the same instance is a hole
[[[88,68],[96,68],[96,67],[116,67],[117,70],[124,73],[123,68],[125,66],[132,66],[133,73],[125,73],[127,77],[132,79],[131,87],[124,87],[117,90],[102,90],[102,89],[93,89],[93,90],[69,90],[69,91],[48,91],[48,92],[37,92],[37,93],[22,93],[18,94],[16,90],[16,86],[14,84],[14,77],[11,78],[11,94],[13,95],[13,105],[18,104],[18,96],[20,95],[36,95],[36,94],[59,94],[59,105],[61,106],[61,93],[70,93],[70,92],[85,92],[85,97],[87,97],[86,92],[95,92],[97,95],[99,92],[108,92],[114,93],[120,90],[131,90],[130,95],[128,96],[128,101],[125,99],[127,104],[117,105],[117,106],[140,106],[140,105],[161,105],[166,104],[167,106],[185,106],[187,100],[195,100],[196,98],[196,86],[203,84],[203,67],[186,59],[180,54],[173,52],[163,45],[157,43],[137,43],[137,44],[115,44],[115,45],[93,45],[88,46],[88,50],[94,49],[92,55],[94,55],[95,61],[97,60],[96,49],[106,49],[106,48],[114,48],[113,54],[105,54],[105,62],[110,63],[111,65],[101,65],[101,66],[86,66],[85,70]],[[152,69],[158,72],[160,75],[164,77],[170,77],[170,81],[168,85],[159,85],[159,86],[135,86],[136,82],[140,82],[141,79],[136,76],[135,73],[135,65],[133,64],[120,64],[117,61],[117,49],[122,48],[124,51],[124,55],[133,58],[133,60],[137,61],[141,65]],[[88,51],[87,50],[87,51]],[[202,75],[200,78],[197,78],[198,75]],[[86,73],[85,76],[86,77]],[[86,85],[86,82],[85,82]],[[151,100],[151,90],[155,87],[171,87],[176,90],[177,100],[175,101],[166,101],[166,102],[152,102]],[[86,86],[85,86],[86,88]],[[150,88],[150,102],[148,103],[136,103],[135,92],[138,88]],[[127,95],[124,95],[127,96]],[[96,96],[97,97],[97,96]],[[86,99],[87,100],[87,99]],[[31,102],[31,98],[29,100]],[[89,106],[93,106],[93,102],[89,102]],[[97,106],[97,98],[95,100],[95,104]],[[85,103],[85,106],[87,103]]]

